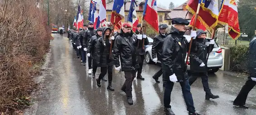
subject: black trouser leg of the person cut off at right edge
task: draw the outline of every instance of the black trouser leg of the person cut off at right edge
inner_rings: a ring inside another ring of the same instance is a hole
[[[247,80],[245,85],[242,87],[241,91],[239,92],[237,98],[234,101],[234,104],[237,105],[245,105],[248,93],[251,89],[256,85],[256,81]]]

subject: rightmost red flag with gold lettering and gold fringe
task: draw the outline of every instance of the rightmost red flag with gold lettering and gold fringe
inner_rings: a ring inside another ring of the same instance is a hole
[[[219,15],[219,23],[228,24],[228,34],[233,39],[237,39],[240,36],[240,27],[238,21],[237,4],[235,0],[223,0],[222,8]]]

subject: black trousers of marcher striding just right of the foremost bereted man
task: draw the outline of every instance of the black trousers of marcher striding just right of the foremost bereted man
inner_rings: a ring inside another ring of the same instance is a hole
[[[197,80],[198,77],[202,78],[203,83],[203,90],[206,92],[206,94],[211,94],[211,90],[209,88],[208,84],[208,74],[207,72],[192,72],[191,77],[189,78],[189,85],[191,86],[194,81]]]

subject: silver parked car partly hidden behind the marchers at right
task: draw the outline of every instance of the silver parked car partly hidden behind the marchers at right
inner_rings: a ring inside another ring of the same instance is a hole
[[[184,35],[184,37],[186,37],[187,39],[190,39],[191,37],[189,35]],[[147,63],[153,63],[152,61],[152,45],[153,45],[153,39],[149,38],[149,45],[146,46],[146,54],[145,54],[145,61]],[[210,39],[210,38],[208,38]],[[214,48],[213,51],[210,53],[209,58],[208,58],[208,62],[207,62],[207,66],[209,68],[209,72],[217,72],[219,70],[219,68],[222,67],[222,48],[219,48],[218,44],[215,42],[214,44]],[[186,59],[185,59],[186,61]],[[160,62],[160,61],[158,61]],[[188,67],[187,70],[190,70],[190,63],[189,63],[189,59],[188,59]]]

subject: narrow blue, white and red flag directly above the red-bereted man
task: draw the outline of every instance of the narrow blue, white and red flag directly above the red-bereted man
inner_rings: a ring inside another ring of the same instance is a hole
[[[128,14],[128,19],[127,19],[128,22],[132,23],[132,30],[134,32],[136,31],[137,25],[139,24],[139,19],[138,19],[136,10],[135,10],[135,6],[138,6],[138,5],[136,5],[136,1],[131,0],[130,11],[129,11],[129,14]]]

